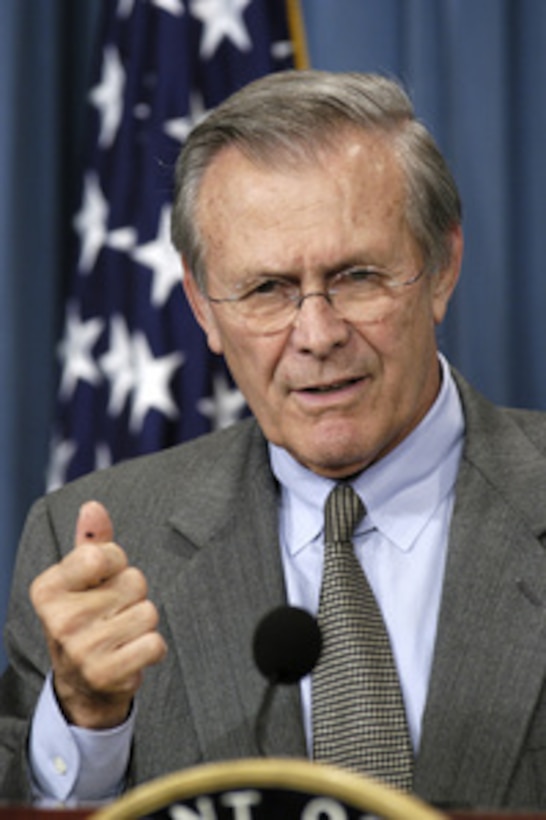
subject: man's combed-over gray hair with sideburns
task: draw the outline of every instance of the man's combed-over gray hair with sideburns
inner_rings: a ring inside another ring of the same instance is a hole
[[[283,71],[254,81],[213,109],[191,132],[178,159],[172,240],[200,287],[206,271],[197,204],[216,155],[234,146],[269,167],[308,163],[319,149],[335,146],[344,128],[393,140],[406,178],[406,220],[424,264],[436,270],[449,263],[450,231],[462,218],[459,193],[402,87],[377,74]]]

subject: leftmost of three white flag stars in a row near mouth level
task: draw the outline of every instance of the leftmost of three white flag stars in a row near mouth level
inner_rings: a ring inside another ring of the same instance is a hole
[[[60,394],[63,399],[70,398],[78,381],[98,384],[100,371],[91,352],[102,333],[102,319],[80,318],[76,307],[71,303],[67,309],[65,335],[59,344],[59,358],[63,365]]]

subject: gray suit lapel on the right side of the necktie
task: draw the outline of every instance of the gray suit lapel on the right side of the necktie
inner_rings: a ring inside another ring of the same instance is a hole
[[[546,521],[538,503],[544,459],[516,425],[477,404],[464,387],[463,400],[467,446],[416,789],[436,803],[499,805],[546,673],[546,556],[539,540]],[[541,476],[537,499],[530,492],[534,471]]]

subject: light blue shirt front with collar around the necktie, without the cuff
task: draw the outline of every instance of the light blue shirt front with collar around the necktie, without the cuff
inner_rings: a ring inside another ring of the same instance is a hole
[[[440,357],[442,387],[428,414],[385,458],[352,481],[367,515],[354,537],[358,559],[391,640],[410,735],[420,739],[447,554],[464,417],[449,367]],[[291,604],[316,614],[324,551],[323,510],[331,481],[310,473],[271,445],[282,488],[279,528]],[[311,749],[311,683],[302,681]]]

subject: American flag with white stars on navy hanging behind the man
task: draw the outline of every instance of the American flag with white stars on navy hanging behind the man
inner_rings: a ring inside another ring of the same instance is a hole
[[[173,168],[207,111],[303,64],[301,15],[294,0],[103,0],[99,56],[48,489],[245,412],[182,292]]]

